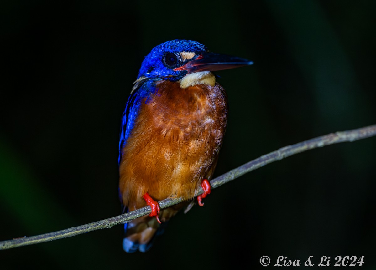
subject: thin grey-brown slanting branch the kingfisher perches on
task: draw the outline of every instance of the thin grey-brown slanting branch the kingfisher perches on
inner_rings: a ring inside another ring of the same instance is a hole
[[[240,167],[237,167],[229,172],[218,176],[215,179],[210,181],[212,189],[219,187],[235,178],[238,178],[245,173],[251,172],[252,170],[258,169],[266,164],[272,163],[274,161],[281,160],[285,157],[290,157],[310,149],[323,147],[326,145],[331,145],[334,143],[341,142],[353,142],[355,140],[365,139],[376,135],[376,125],[371,125],[369,127],[358,128],[355,130],[348,130],[342,132],[331,133],[328,135],[320,136],[311,140],[306,140],[304,142],[296,143],[294,145],[289,145],[283,148],[278,149],[277,151],[271,152],[269,154],[263,155],[255,160],[252,160],[246,164],[243,164]],[[200,195],[202,191],[196,194]],[[182,202],[182,198],[176,199],[165,199],[159,202],[161,208],[167,208],[172,205]],[[112,226],[118,225],[120,223],[128,223],[137,217],[150,214],[150,206],[140,208],[138,210],[122,214],[120,216],[111,217],[109,219],[103,219],[97,222],[92,222],[89,224],[57,231],[50,232],[47,234],[35,235],[30,237],[15,238],[13,240],[0,241],[0,250],[2,249],[11,249],[14,247],[26,246],[31,244],[37,244],[52,240],[57,240],[61,238],[71,237],[78,234],[83,234],[85,232],[95,231],[98,229],[111,228]]]

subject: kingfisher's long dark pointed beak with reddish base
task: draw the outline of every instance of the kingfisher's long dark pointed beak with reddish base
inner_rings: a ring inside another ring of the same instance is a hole
[[[174,70],[187,70],[188,72],[217,71],[252,64],[252,61],[236,56],[202,52],[196,59],[187,62],[183,66],[174,68]]]

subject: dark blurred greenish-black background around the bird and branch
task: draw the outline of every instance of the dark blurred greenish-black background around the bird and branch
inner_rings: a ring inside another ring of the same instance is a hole
[[[217,72],[230,102],[215,175],[376,123],[375,1],[2,1],[0,240],[120,214],[118,134],[141,62],[192,39],[251,59]],[[0,251],[0,268],[262,268],[268,255],[376,267],[376,138],[314,149],[215,189],[143,254],[122,226]],[[312,267],[311,267],[312,268]],[[316,267],[314,267],[316,268]],[[354,267],[358,268],[358,266]]]

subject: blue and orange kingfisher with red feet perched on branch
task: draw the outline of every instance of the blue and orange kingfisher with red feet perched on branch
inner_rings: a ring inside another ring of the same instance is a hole
[[[124,251],[149,250],[200,189],[203,205],[228,115],[226,92],[212,71],[252,63],[190,40],[164,42],[145,57],[121,119],[119,197],[123,213],[146,205],[152,213],[124,225]],[[159,208],[158,201],[176,197],[185,202]]]

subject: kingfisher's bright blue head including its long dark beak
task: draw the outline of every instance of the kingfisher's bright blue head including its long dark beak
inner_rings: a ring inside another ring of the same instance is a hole
[[[197,80],[196,77],[205,77],[205,74],[209,74],[211,71],[244,65],[252,65],[252,62],[240,57],[209,53],[204,45],[196,41],[172,40],[154,47],[145,57],[138,74],[138,80],[156,78],[180,82],[184,77],[193,73],[195,74],[191,77]],[[214,75],[212,77],[214,78]],[[191,79],[185,81],[191,81]],[[187,83],[185,82],[185,84]],[[189,84],[191,83],[187,85]]]

